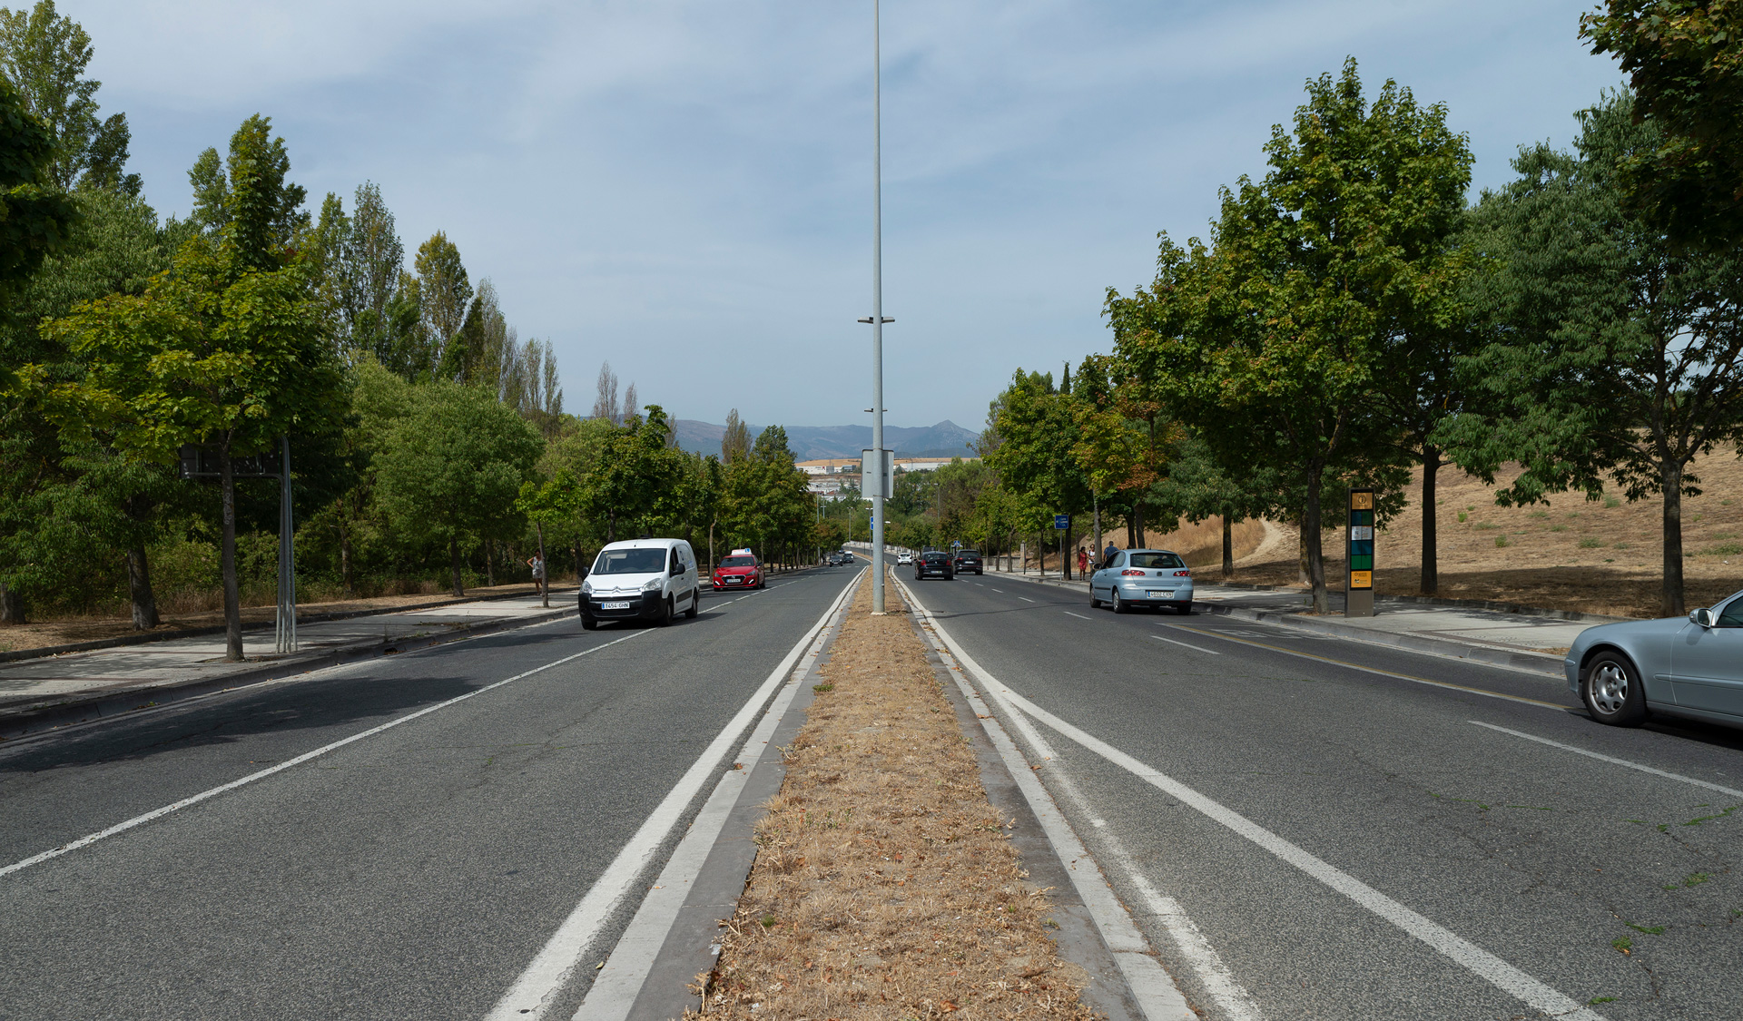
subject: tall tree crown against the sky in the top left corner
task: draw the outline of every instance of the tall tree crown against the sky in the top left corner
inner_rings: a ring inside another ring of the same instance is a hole
[[[125,113],[98,118],[103,82],[82,77],[91,63],[91,35],[77,21],[38,0],[30,10],[0,7],[0,73],[19,91],[24,108],[54,141],[49,181],[139,193],[139,174],[124,172],[132,132]]]

